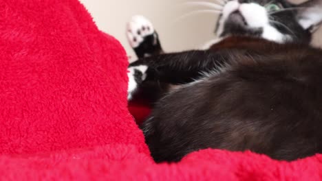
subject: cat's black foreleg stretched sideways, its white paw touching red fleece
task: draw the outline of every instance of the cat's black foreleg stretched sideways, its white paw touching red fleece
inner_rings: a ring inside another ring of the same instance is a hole
[[[227,60],[225,57],[211,51],[185,51],[140,58],[128,68],[128,99],[144,82],[180,85],[198,80],[204,73],[216,71]]]

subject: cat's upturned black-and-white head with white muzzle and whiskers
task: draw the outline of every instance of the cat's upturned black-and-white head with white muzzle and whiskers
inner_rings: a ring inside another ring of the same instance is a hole
[[[279,43],[309,43],[322,22],[322,0],[299,5],[285,0],[228,0],[217,23],[217,35],[255,36]]]

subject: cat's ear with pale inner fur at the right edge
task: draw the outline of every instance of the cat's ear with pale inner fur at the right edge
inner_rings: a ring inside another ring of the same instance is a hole
[[[304,29],[314,32],[322,23],[322,0],[310,0],[297,5],[297,20]]]

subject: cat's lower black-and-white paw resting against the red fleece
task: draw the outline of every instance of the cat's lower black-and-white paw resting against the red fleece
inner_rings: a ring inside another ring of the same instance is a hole
[[[131,100],[133,94],[136,93],[138,86],[147,78],[146,65],[139,65],[127,68],[127,76],[129,77],[129,85],[127,88],[127,99]]]

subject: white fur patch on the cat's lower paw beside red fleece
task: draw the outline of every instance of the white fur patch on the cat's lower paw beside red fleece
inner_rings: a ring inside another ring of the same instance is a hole
[[[139,65],[136,67],[129,67],[127,69],[127,76],[129,77],[129,84],[127,87],[127,99],[131,100],[133,97],[133,93],[136,92],[136,89],[138,88],[138,83],[136,82],[136,78],[134,76],[135,71],[140,71],[142,73],[142,80],[145,80],[147,78],[147,74],[145,73],[147,71],[148,67],[146,65]]]

